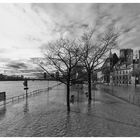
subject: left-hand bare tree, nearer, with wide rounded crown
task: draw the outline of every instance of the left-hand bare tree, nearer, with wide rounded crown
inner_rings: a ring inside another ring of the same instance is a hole
[[[68,39],[59,39],[55,42],[48,43],[43,49],[45,58],[38,64],[51,75],[51,71],[57,71],[60,77],[53,78],[64,83],[67,87],[67,110],[70,111],[70,85],[73,81],[73,70],[80,61],[82,55],[79,51],[79,44],[76,41]]]

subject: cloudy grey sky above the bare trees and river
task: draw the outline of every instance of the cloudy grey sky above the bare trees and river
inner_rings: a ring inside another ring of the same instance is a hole
[[[35,76],[41,70],[31,59],[43,56],[42,46],[79,37],[97,17],[132,28],[119,47],[139,49],[140,4],[0,3],[0,73]]]

